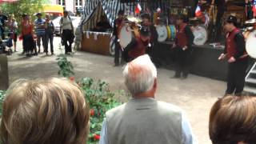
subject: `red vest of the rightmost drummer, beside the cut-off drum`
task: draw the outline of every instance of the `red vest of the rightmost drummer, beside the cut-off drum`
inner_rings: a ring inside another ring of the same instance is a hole
[[[240,33],[240,30],[238,30],[238,28],[236,28],[227,35],[227,38],[226,38],[226,53],[227,53],[228,58],[234,57],[235,54],[238,53],[237,45],[236,45],[236,42],[234,41],[235,35],[238,34],[238,33]],[[246,56],[247,56],[247,54],[246,54],[246,51],[245,51],[244,54],[240,58],[246,58]]]

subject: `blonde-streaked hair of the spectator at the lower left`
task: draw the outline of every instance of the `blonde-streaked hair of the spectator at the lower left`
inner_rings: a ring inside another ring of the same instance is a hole
[[[66,79],[14,82],[3,102],[2,142],[86,143],[89,111],[82,90]]]

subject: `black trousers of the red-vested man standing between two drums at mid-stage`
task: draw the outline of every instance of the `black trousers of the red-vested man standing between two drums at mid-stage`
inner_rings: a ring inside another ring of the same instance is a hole
[[[182,50],[182,48],[177,47],[175,52],[176,58],[176,72],[175,77],[187,77],[190,73],[190,61],[191,61],[191,48]]]

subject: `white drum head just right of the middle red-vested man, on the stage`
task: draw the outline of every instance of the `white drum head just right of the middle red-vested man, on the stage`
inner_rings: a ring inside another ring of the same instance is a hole
[[[196,26],[193,30],[194,34],[194,44],[197,46],[202,46],[207,41],[207,31],[204,26]]]

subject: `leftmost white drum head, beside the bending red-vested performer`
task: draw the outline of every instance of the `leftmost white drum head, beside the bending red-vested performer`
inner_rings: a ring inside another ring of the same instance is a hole
[[[120,46],[125,48],[132,39],[132,31],[130,30],[129,26],[122,26],[119,34]]]

